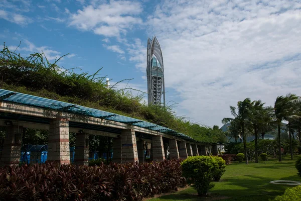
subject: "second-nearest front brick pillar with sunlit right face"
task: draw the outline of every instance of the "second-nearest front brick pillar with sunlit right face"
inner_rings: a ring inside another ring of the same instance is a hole
[[[138,161],[135,130],[123,130],[121,133],[121,162]]]

